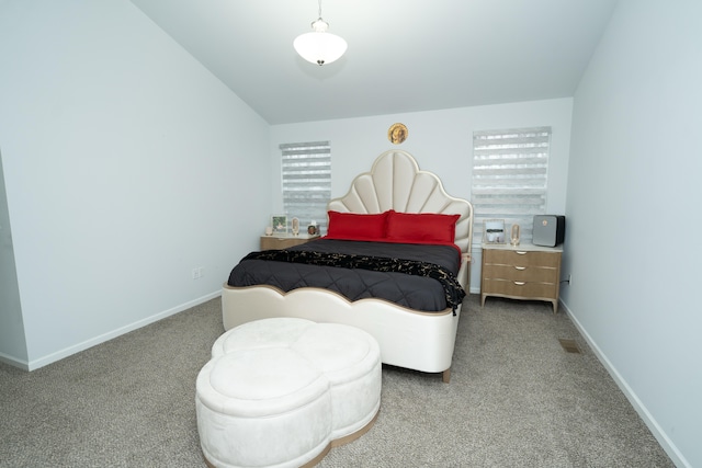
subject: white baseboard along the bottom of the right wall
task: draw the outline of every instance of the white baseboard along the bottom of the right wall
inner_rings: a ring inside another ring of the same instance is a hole
[[[578,321],[578,319],[575,317],[575,315],[568,308],[568,306],[565,303],[563,303],[563,300],[561,301],[561,307],[563,310],[566,311],[567,316],[570,318],[570,321],[578,329],[578,331],[580,332],[585,341],[588,342],[588,345],[590,346],[590,349],[592,350],[597,358],[604,366],[609,375],[612,377],[612,379],[614,380],[616,386],[620,388],[620,390],[622,390],[622,392],[624,393],[629,402],[632,404],[632,407],[634,407],[634,410],[636,410],[641,419],[644,421],[644,423],[646,424],[648,430],[652,432],[654,437],[656,437],[656,441],[658,441],[658,443],[660,444],[663,449],[666,452],[668,457],[670,457],[672,463],[677,467],[691,468],[692,465],[690,465],[686,459],[686,457],[680,453],[680,450],[678,450],[678,447],[672,443],[670,437],[668,437],[668,434],[666,434],[666,432],[660,427],[660,425],[654,419],[650,412],[648,412],[648,409],[638,399],[634,390],[629,386],[626,380],[624,380],[622,375],[616,370],[616,368],[610,362],[610,359],[608,359],[607,355],[602,352],[602,350],[600,350],[600,347],[597,345],[595,340],[592,340],[592,336],[590,336],[587,330],[585,330],[582,324]]]

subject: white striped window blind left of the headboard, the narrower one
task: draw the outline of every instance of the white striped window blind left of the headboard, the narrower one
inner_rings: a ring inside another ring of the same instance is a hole
[[[327,203],[331,197],[331,146],[329,141],[280,146],[282,151],[283,209],[287,221],[299,219],[301,230],[317,221],[327,231]]]

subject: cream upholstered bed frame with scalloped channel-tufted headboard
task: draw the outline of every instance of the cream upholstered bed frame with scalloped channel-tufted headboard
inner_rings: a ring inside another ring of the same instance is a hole
[[[405,151],[382,153],[371,172],[356,176],[349,193],[329,202],[328,208],[344,213],[375,214],[388,209],[404,213],[460,214],[455,243],[462,251],[458,282],[468,292],[473,206],[449,196],[431,172],[420,171]],[[346,323],[371,333],[381,346],[385,364],[451,378],[461,307],[421,312],[383,299],[349,301],[322,288],[303,287],[284,293],[273,286],[224,285],[222,307],[225,330],[252,320],[299,317],[318,322]]]

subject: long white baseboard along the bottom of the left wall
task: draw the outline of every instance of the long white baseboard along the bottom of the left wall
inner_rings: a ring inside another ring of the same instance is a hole
[[[110,340],[112,340],[114,338],[117,338],[117,336],[123,335],[125,333],[128,333],[131,331],[140,329],[141,327],[146,327],[146,326],[148,326],[150,323],[157,322],[157,321],[162,320],[162,319],[165,319],[167,317],[170,317],[172,315],[182,312],[183,310],[188,310],[191,307],[195,307],[195,306],[197,306],[200,304],[206,303],[207,300],[214,299],[215,297],[218,297],[220,295],[222,295],[222,289],[216,290],[214,293],[207,294],[205,296],[202,296],[202,297],[199,297],[196,299],[193,299],[193,300],[190,300],[188,303],[184,303],[184,304],[181,304],[179,306],[176,306],[176,307],[173,307],[171,309],[168,309],[168,310],[165,310],[162,312],[156,313],[156,315],[154,315],[151,317],[147,317],[145,319],[137,320],[136,322],[129,323],[128,326],[121,327],[121,328],[118,328],[116,330],[113,330],[111,332],[103,333],[103,334],[98,335],[95,338],[92,338],[90,340],[86,340],[82,343],[78,343],[78,344],[75,344],[72,346],[68,346],[68,347],[66,347],[64,350],[60,350],[60,351],[57,351],[55,353],[48,354],[46,356],[39,357],[38,359],[30,361],[29,363],[24,363],[25,364],[24,366],[18,365],[16,367],[24,368],[25,370],[30,370],[30,372],[38,369],[39,367],[44,367],[44,366],[46,366],[48,364],[55,363],[57,361],[60,361],[60,359],[63,359],[65,357],[68,357],[70,355],[72,355],[72,354],[76,354],[76,353],[79,353],[81,351],[88,350],[89,347],[92,347],[92,346],[95,346],[98,344],[104,343],[106,341],[110,341]],[[1,356],[0,356],[0,358],[1,358]],[[13,364],[11,362],[9,362],[8,364],[15,365],[15,364]]]

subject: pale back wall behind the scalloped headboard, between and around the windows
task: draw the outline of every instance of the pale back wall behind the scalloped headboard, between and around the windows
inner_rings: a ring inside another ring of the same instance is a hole
[[[369,171],[383,151],[397,148],[410,152],[420,169],[437,173],[452,196],[471,199],[473,132],[548,125],[553,128],[548,167],[548,213],[564,214],[570,146],[571,99],[462,107],[443,111],[381,115],[362,118],[310,122],[271,127],[271,176],[281,180],[282,142],[331,141],[331,196],[347,193],[353,178]],[[407,125],[409,137],[401,145],[387,140],[396,122]],[[281,201],[280,183],[272,199]],[[282,202],[274,209],[282,209]],[[293,215],[294,216],[294,215]],[[471,290],[479,290],[480,249],[474,247]]]

